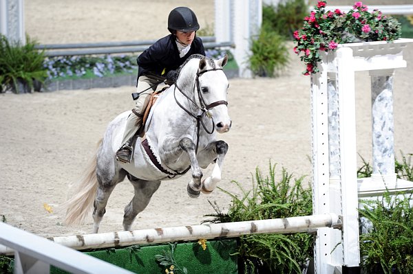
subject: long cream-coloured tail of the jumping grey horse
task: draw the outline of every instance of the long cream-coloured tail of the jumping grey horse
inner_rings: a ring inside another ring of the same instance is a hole
[[[99,141],[98,145],[102,143]],[[96,179],[96,160],[97,153],[87,166],[81,181],[78,183],[76,190],[63,206],[66,207],[65,225],[79,225],[85,222],[87,216],[92,212],[92,205],[98,188]]]

